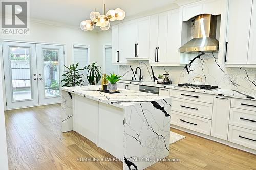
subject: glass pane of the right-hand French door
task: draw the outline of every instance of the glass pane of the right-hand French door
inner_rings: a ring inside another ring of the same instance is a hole
[[[44,81],[45,97],[58,96],[59,87],[59,51],[52,49],[43,49],[44,57]]]

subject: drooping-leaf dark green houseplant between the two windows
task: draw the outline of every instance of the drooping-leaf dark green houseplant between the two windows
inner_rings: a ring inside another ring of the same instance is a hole
[[[86,67],[84,67],[85,69],[88,69],[88,73],[87,73],[87,77],[86,79],[88,80],[90,85],[95,85],[99,82],[100,78],[101,78],[101,67],[100,66],[96,66],[96,64],[98,63],[92,63]],[[96,83],[95,83],[96,80]]]

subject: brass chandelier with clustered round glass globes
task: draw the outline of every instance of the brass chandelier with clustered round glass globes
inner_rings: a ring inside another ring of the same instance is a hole
[[[83,31],[92,31],[94,26],[99,26],[101,30],[105,31],[110,28],[110,21],[123,20],[124,17],[125,12],[120,8],[111,9],[105,14],[105,3],[103,0],[103,15],[96,12],[95,9],[95,11],[90,13],[90,19],[81,21],[80,28]]]

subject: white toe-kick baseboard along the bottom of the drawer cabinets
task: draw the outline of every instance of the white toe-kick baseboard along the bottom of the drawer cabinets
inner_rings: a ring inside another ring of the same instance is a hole
[[[226,141],[226,140],[222,140],[222,139],[219,139],[219,138],[216,138],[216,137],[212,137],[212,136],[209,136],[209,135],[198,133],[198,132],[186,129],[186,128],[182,128],[182,127],[177,126],[177,125],[170,125],[170,128],[171,129],[172,128],[179,129],[181,131],[184,131],[184,132],[187,132],[187,133],[190,133],[190,134],[193,134],[193,135],[197,135],[197,136],[209,139],[209,140],[213,140],[213,141],[216,141],[218,143],[228,145],[229,147],[237,148],[237,149],[240,149],[240,150],[243,150],[243,151],[246,151],[246,152],[249,152],[249,153],[252,153],[252,154],[256,155],[256,150],[253,150],[253,149],[250,149],[250,148],[247,148],[247,147],[243,147],[242,145],[239,145],[239,144],[236,144],[236,143],[231,143],[231,142]]]

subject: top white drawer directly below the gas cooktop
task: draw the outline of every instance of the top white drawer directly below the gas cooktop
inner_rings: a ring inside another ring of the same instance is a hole
[[[195,100],[195,101],[206,102],[206,103],[214,102],[213,95],[190,92],[190,91],[170,90],[170,96],[175,97],[175,98]]]

